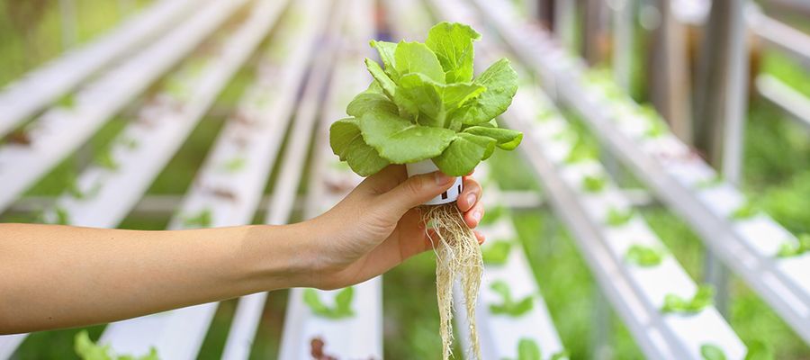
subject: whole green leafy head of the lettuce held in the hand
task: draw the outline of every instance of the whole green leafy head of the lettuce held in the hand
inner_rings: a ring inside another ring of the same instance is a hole
[[[466,175],[495,148],[517,148],[523,134],[499,128],[518,91],[518,74],[501,58],[473,78],[473,42],[462,23],[438,23],[421,42],[371,41],[383,66],[366,58],[374,81],[329,129],[335,155],[357,174],[432,159],[447,175]]]

